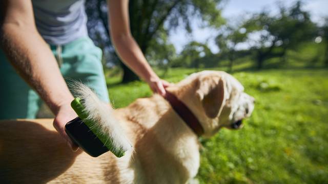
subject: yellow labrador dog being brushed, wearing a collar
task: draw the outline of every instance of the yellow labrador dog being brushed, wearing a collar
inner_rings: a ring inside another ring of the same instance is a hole
[[[240,128],[254,98],[217,71],[192,74],[167,91],[167,99],[153,95],[114,110],[134,147],[121,158],[72,152],[51,119],[0,122],[0,183],[186,183],[199,168],[198,135]]]

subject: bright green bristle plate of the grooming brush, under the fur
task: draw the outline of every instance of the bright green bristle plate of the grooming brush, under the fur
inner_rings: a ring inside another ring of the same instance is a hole
[[[111,137],[109,135],[101,133],[97,129],[98,126],[95,126],[97,122],[93,122],[92,120],[88,119],[88,113],[85,111],[85,107],[80,101],[81,99],[77,97],[71,103],[71,106],[77,113],[77,116],[90,128],[90,130],[98,137],[98,139],[104,144],[104,146],[106,146],[108,150],[115,154],[115,156],[124,156],[125,150],[120,147],[115,148]]]

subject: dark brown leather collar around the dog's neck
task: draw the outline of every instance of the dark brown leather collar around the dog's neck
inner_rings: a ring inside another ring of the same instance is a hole
[[[195,114],[175,95],[166,91],[165,99],[171,104],[174,111],[180,116],[180,118],[198,135],[204,133],[203,127],[196,118]]]

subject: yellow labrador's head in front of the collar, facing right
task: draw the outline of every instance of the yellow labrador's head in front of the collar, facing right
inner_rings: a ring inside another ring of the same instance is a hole
[[[239,129],[254,110],[254,98],[233,76],[218,71],[195,73],[174,86],[174,92],[198,118],[204,136],[220,128]]]

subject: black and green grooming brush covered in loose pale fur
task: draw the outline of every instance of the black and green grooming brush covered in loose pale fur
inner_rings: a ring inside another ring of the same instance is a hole
[[[78,117],[65,125],[68,136],[93,157],[107,151],[124,156],[132,146],[112,116],[112,108],[101,102],[89,87],[74,83],[73,88],[78,97],[71,106]]]

